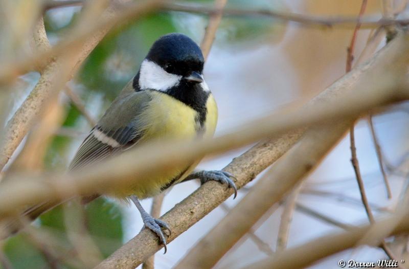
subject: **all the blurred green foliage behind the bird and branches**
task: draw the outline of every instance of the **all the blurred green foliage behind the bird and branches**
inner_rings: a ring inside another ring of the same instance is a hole
[[[195,3],[212,5],[213,0],[200,0]],[[280,2],[278,2],[280,3]],[[277,2],[261,0],[231,0],[228,6],[240,9],[271,9],[278,8]],[[282,8],[281,8],[282,9]],[[69,9],[65,9],[69,10]],[[75,23],[78,10],[65,18],[64,23],[56,21],[56,14],[47,12],[44,17],[47,33],[52,42],[63,38],[65,30]],[[54,12],[54,11],[53,11]],[[59,11],[61,12],[61,11]],[[111,31],[95,48],[84,62],[76,82],[83,89],[81,98],[87,105],[87,100],[102,97],[101,108],[87,107],[89,110],[98,109],[96,114],[102,114],[111,101],[118,95],[121,88],[135,75],[142,59],[151,44],[160,36],[170,32],[182,32],[200,42],[207,25],[207,16],[181,12],[161,12],[147,16]],[[263,39],[279,40],[285,32],[285,27],[276,24],[266,17],[224,17],[217,32],[216,46],[256,43]],[[101,109],[101,110],[99,110]],[[66,119],[63,126],[78,127],[78,119],[82,117],[73,106],[66,106]],[[67,164],[66,154],[72,145],[72,139],[57,136],[49,146],[44,162],[49,169],[62,168]],[[72,206],[72,205],[68,205]],[[43,214],[37,222],[41,227],[50,231],[59,242],[59,248],[65,250],[66,255],[72,250],[70,240],[66,236],[64,212],[59,206]],[[107,257],[123,243],[122,213],[112,201],[99,198],[85,207],[86,228],[90,236]],[[43,268],[47,267],[43,254],[26,234],[18,234],[9,238],[4,251],[14,268]],[[61,253],[62,255],[64,253]],[[72,268],[65,264],[63,268]]]

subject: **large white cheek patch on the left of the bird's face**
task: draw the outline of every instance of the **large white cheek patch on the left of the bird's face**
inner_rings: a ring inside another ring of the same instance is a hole
[[[156,89],[157,91],[166,91],[177,86],[182,76],[170,74],[156,63],[144,60],[139,73],[139,87],[141,89]]]

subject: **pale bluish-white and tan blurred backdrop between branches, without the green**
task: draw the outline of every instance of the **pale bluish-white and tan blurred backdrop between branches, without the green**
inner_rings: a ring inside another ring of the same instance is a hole
[[[370,1],[368,12],[380,17],[375,11],[380,10],[381,1]],[[360,1],[281,1],[283,7],[292,12],[320,15],[355,15],[359,11]],[[70,11],[71,10],[71,11]],[[56,11],[54,16],[64,24],[70,20],[70,14],[75,9]],[[70,13],[71,12],[71,13]],[[197,19],[196,19],[197,20]],[[194,18],[181,20],[181,25],[200,23]],[[267,112],[283,107],[301,96],[319,93],[337,78],[345,73],[346,49],[349,44],[352,29],[320,29],[300,27],[288,24],[283,30],[280,41],[274,44],[268,41],[246,44],[246,46],[219,46],[216,42],[205,66],[205,79],[212,90],[219,107],[219,123],[216,136],[229,132],[235,126],[245,124]],[[368,38],[369,31],[360,31],[357,39],[356,52],[359,53]],[[195,39],[199,39],[197,34]],[[53,37],[51,37],[53,41]],[[382,43],[383,45],[383,43]],[[26,76],[28,81],[36,79],[37,75]],[[38,78],[37,78],[38,79]],[[28,93],[20,93],[23,100]],[[87,108],[95,113],[100,109],[103,96],[87,103]],[[15,104],[18,107],[19,102]],[[404,107],[404,105],[403,105]],[[409,110],[408,110],[409,111]],[[380,144],[388,161],[396,164],[408,151],[406,142],[409,135],[409,117],[404,111],[396,111],[374,118],[375,128]],[[84,126],[86,124],[84,123]],[[87,127],[84,127],[86,129]],[[383,187],[370,130],[365,120],[356,126],[356,147],[362,177],[371,203],[380,207],[393,207],[402,189],[403,177],[390,175],[393,199],[388,200]],[[77,143],[79,144],[79,140]],[[199,165],[201,169],[221,169],[232,158],[241,154],[248,147],[235,150],[219,158],[206,160]],[[73,147],[74,154],[76,147]],[[294,164],[296,166],[297,164]],[[283,178],[283,181],[285,178]],[[253,181],[254,184],[256,181]],[[167,212],[176,203],[188,196],[198,185],[189,182],[175,186],[165,197],[162,213]],[[360,199],[354,172],[350,163],[349,136],[327,156],[320,167],[306,180],[304,189],[317,189],[344,194]],[[243,197],[240,192],[237,199],[231,196],[225,203],[229,207]],[[367,216],[359,204],[350,204],[334,197],[300,194],[298,201],[325,215],[341,222],[355,224],[367,223]],[[142,201],[146,210],[150,209],[151,199]],[[123,206],[127,220],[123,223],[126,233],[125,241],[135,236],[143,223],[140,214],[134,206]],[[375,216],[377,215],[374,211]],[[191,229],[180,235],[168,245],[168,252],[155,256],[155,266],[158,269],[169,268],[195,244],[203,235],[214,227],[225,215],[219,208],[199,221]],[[256,231],[256,234],[275,249],[277,232],[280,223],[281,208],[269,216]],[[288,247],[306,243],[318,236],[332,232],[340,232],[339,228],[327,225],[299,211],[293,216],[290,228]],[[228,233],[229,231],[226,231]],[[125,242],[124,241],[124,242]],[[237,268],[255,262],[266,255],[249,239],[237,244],[226,254],[216,268]],[[359,261],[374,261],[384,258],[383,251],[374,248],[362,248],[345,251],[329,257],[310,268],[339,268],[339,259],[354,258]],[[294,257],[297,258],[297,257]]]

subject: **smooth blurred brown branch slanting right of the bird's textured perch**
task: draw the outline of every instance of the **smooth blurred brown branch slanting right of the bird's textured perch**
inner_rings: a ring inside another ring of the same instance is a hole
[[[344,120],[308,130],[174,268],[212,268],[272,205],[320,163],[352,122]]]

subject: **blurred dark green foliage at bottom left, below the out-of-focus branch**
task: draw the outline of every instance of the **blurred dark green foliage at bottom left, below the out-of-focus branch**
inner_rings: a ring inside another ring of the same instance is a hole
[[[72,203],[58,206],[53,210],[41,215],[39,220],[41,228],[48,231],[61,249],[57,253],[62,257],[72,255],[72,245],[66,237],[64,222],[64,207],[73,207]],[[98,246],[103,257],[108,257],[123,243],[122,212],[119,207],[110,200],[100,197],[85,207],[85,226],[89,235]],[[44,239],[46,240],[46,239]],[[55,251],[55,249],[53,249]],[[27,234],[17,234],[9,238],[4,246],[4,252],[13,268],[36,269],[46,267],[46,259],[43,253],[33,245]],[[68,268],[73,268],[64,264]]]

